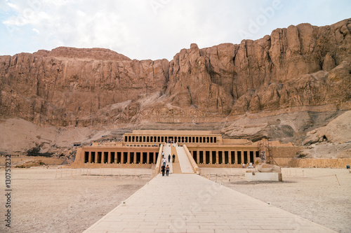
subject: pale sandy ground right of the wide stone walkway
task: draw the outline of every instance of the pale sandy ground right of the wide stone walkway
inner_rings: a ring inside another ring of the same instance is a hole
[[[201,169],[201,175],[336,232],[350,232],[349,170],[287,168],[282,169],[283,182],[247,182],[245,170]]]

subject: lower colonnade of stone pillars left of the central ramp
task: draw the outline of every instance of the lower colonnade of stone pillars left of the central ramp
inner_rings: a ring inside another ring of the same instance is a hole
[[[146,154],[146,160],[144,155]],[[84,151],[84,163],[95,164],[154,164],[157,161],[156,152],[134,151]],[[133,157],[131,156],[133,155]]]

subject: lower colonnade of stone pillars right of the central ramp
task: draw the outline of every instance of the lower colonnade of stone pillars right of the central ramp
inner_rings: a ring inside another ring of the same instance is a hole
[[[192,150],[189,148],[192,157],[197,164],[249,164],[253,163],[255,157],[259,157],[259,150]]]

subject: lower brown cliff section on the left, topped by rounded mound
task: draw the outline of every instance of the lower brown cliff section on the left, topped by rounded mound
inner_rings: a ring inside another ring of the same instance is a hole
[[[77,54],[77,56],[76,56]],[[38,125],[103,125],[99,111],[164,92],[167,60],[137,61],[104,49],[56,48],[0,57],[1,114]],[[101,114],[101,113],[100,113]]]

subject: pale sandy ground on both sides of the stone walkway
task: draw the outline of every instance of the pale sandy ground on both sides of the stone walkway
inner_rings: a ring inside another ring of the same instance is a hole
[[[150,169],[11,171],[11,230],[82,232],[150,181]],[[217,175],[216,175],[217,174]],[[338,176],[338,181],[336,176]],[[201,175],[338,232],[350,232],[351,174],[346,169],[283,169],[284,182],[246,182],[244,169],[201,169]],[[5,171],[0,169],[1,193]],[[1,195],[1,216],[6,211]]]

